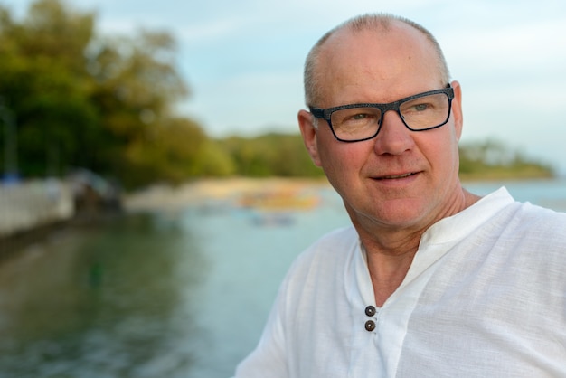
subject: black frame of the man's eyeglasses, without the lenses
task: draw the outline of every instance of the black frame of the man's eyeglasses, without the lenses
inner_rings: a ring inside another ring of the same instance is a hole
[[[410,126],[407,125],[407,123],[405,122],[405,119],[401,116],[401,109],[400,109],[401,104],[404,103],[404,102],[410,101],[412,99],[420,99],[421,97],[426,97],[426,96],[435,95],[435,94],[439,94],[439,93],[444,93],[448,97],[448,116],[444,120],[444,122],[440,123],[437,126],[433,126],[433,127],[430,127],[430,128],[419,128],[419,129],[410,128]],[[426,91],[426,92],[422,92],[422,93],[418,93],[418,94],[406,97],[404,99],[398,99],[397,101],[393,101],[393,102],[390,102],[388,104],[360,103],[360,104],[340,105],[338,107],[326,108],[326,109],[308,107],[308,110],[311,112],[311,114],[315,118],[325,119],[325,121],[328,123],[328,127],[332,131],[332,134],[335,136],[335,138],[337,140],[339,140],[341,142],[346,142],[346,143],[354,143],[354,142],[362,142],[364,140],[369,140],[369,139],[373,139],[374,137],[377,137],[380,130],[382,129],[382,122],[383,122],[383,117],[385,116],[385,112],[387,112],[389,110],[396,111],[397,114],[399,115],[399,118],[401,118],[401,120],[403,121],[403,125],[405,125],[406,128],[409,128],[410,131],[426,131],[426,130],[431,130],[433,128],[440,128],[441,126],[446,125],[448,123],[448,119],[450,119],[450,114],[451,114],[451,111],[452,111],[452,99],[454,99],[454,89],[448,83],[448,86],[446,88],[441,89],[441,90],[429,90],[429,91]],[[377,128],[377,130],[375,130],[375,134],[373,134],[373,136],[364,137],[363,139],[354,139],[354,140],[341,139],[340,137],[336,136],[335,129],[333,128],[332,121],[331,121],[332,113],[334,113],[337,110],[353,109],[353,108],[377,108],[382,112],[382,118],[380,118],[380,120],[378,122],[378,128]]]

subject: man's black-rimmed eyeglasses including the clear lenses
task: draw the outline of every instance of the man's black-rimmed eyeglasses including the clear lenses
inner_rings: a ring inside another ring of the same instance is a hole
[[[454,90],[429,90],[389,104],[351,104],[335,108],[309,107],[316,118],[325,119],[335,138],[342,142],[361,142],[379,133],[384,114],[394,110],[411,131],[439,128],[448,122]]]

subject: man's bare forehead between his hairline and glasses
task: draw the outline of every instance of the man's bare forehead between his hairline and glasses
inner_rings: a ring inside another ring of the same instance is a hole
[[[389,102],[444,84],[432,43],[399,23],[387,29],[336,32],[321,49],[317,69],[325,102],[334,102],[325,106]]]

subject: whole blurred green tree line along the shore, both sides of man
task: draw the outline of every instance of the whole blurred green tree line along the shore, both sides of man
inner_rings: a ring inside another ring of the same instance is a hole
[[[190,95],[175,38],[100,33],[97,15],[38,0],[22,19],[0,5],[0,176],[87,168],[125,188],[201,177],[318,177],[300,135],[209,137],[175,113]],[[552,175],[493,141],[461,148],[466,178]]]

